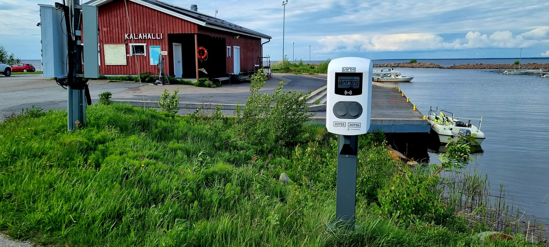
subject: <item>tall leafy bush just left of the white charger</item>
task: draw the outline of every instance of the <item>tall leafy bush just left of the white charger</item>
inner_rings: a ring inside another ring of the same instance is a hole
[[[311,92],[283,91],[281,81],[273,94],[259,94],[267,77],[263,70],[251,77],[251,95],[244,105],[240,132],[245,140],[264,152],[293,146],[302,140],[305,123],[315,113],[308,112]]]

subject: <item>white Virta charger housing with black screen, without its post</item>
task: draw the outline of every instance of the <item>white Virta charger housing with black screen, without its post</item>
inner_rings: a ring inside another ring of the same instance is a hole
[[[370,127],[372,61],[338,58],[328,64],[326,128],[339,135],[360,135]]]

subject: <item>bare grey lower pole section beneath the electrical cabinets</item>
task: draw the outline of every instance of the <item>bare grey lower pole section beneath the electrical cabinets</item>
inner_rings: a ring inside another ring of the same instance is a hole
[[[76,121],[86,124],[86,95],[83,89],[74,89],[71,86],[67,87],[67,93],[67,129],[74,130],[77,128]]]

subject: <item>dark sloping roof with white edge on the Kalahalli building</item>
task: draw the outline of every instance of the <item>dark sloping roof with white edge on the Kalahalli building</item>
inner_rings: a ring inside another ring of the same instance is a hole
[[[102,4],[105,4],[105,3],[110,2],[110,1],[112,1],[112,0],[92,0],[92,1],[89,1],[87,4],[102,5]],[[265,38],[265,39],[272,38],[271,36],[265,35],[265,34],[260,33],[260,32],[256,32],[256,31],[251,30],[249,28],[245,28],[245,27],[242,27],[242,26],[239,26],[239,25],[236,25],[236,24],[232,24],[231,22],[228,22],[226,20],[215,18],[214,16],[211,16],[211,15],[206,15],[206,14],[203,14],[203,13],[200,13],[200,12],[195,12],[191,9],[182,8],[182,7],[179,7],[177,5],[165,3],[165,2],[162,2],[162,1],[159,1],[159,0],[137,0],[137,1],[133,0],[133,1],[134,2],[144,2],[145,4],[148,4],[148,5],[154,5],[154,7],[156,7],[156,8],[165,9],[165,10],[168,10],[169,12],[173,12],[173,13],[177,13],[179,15],[183,15],[187,18],[196,20],[197,23],[199,23],[201,25],[204,24],[204,26],[206,26],[206,27],[212,27],[212,28],[217,28],[217,29],[222,29],[222,30],[227,30],[227,31],[233,31],[233,32],[241,33],[243,35],[250,35],[250,36],[260,37],[260,38]]]

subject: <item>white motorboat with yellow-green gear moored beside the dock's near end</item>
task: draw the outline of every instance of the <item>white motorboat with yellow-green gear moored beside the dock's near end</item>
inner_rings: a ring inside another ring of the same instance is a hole
[[[455,117],[453,113],[449,111],[441,110],[437,115],[438,107],[433,111],[429,110],[429,116],[427,121],[431,124],[431,130],[438,135],[438,139],[441,143],[448,143],[450,141],[457,141],[462,136],[474,136],[478,145],[486,139],[483,131],[480,131],[483,118],[464,118]],[[450,116],[451,115],[451,116]],[[479,120],[478,128],[471,124],[471,120]]]

